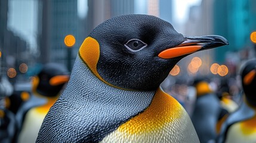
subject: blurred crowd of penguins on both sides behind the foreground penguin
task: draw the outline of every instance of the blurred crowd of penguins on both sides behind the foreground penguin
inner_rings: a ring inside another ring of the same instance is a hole
[[[201,142],[256,142],[256,60],[229,77],[170,78],[162,89],[183,105]],[[0,142],[35,142],[68,80],[69,71],[56,63],[45,64],[29,88],[0,77]]]

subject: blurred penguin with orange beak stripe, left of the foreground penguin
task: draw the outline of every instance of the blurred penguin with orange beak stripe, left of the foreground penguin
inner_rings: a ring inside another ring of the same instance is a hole
[[[33,77],[33,96],[17,113],[18,142],[35,142],[44,117],[60,95],[69,75],[66,67],[48,63]],[[34,96],[36,95],[36,96]]]

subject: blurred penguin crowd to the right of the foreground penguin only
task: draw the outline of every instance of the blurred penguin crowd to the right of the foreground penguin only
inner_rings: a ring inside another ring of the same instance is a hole
[[[170,77],[175,82],[161,85],[183,105],[201,142],[256,142],[256,59],[238,67],[229,77]]]

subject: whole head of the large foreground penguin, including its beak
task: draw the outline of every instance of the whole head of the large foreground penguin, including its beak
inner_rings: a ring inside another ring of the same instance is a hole
[[[181,58],[227,44],[221,36],[183,36],[158,17],[132,14],[111,18],[92,30],[79,57],[108,85],[153,90]]]

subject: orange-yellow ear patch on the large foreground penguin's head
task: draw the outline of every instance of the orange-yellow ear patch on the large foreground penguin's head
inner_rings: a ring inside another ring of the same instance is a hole
[[[95,76],[98,77],[98,79],[100,79],[101,81],[103,81],[109,86],[112,86],[118,89],[124,89],[106,82],[106,80],[104,80],[100,76],[100,74],[98,74],[97,63],[98,63],[98,59],[100,58],[100,44],[96,39],[91,37],[86,38],[79,49],[79,55],[82,61],[84,61],[84,63],[87,64],[89,69],[92,71],[92,73],[95,74]],[[128,89],[125,89],[125,90],[128,90]]]

